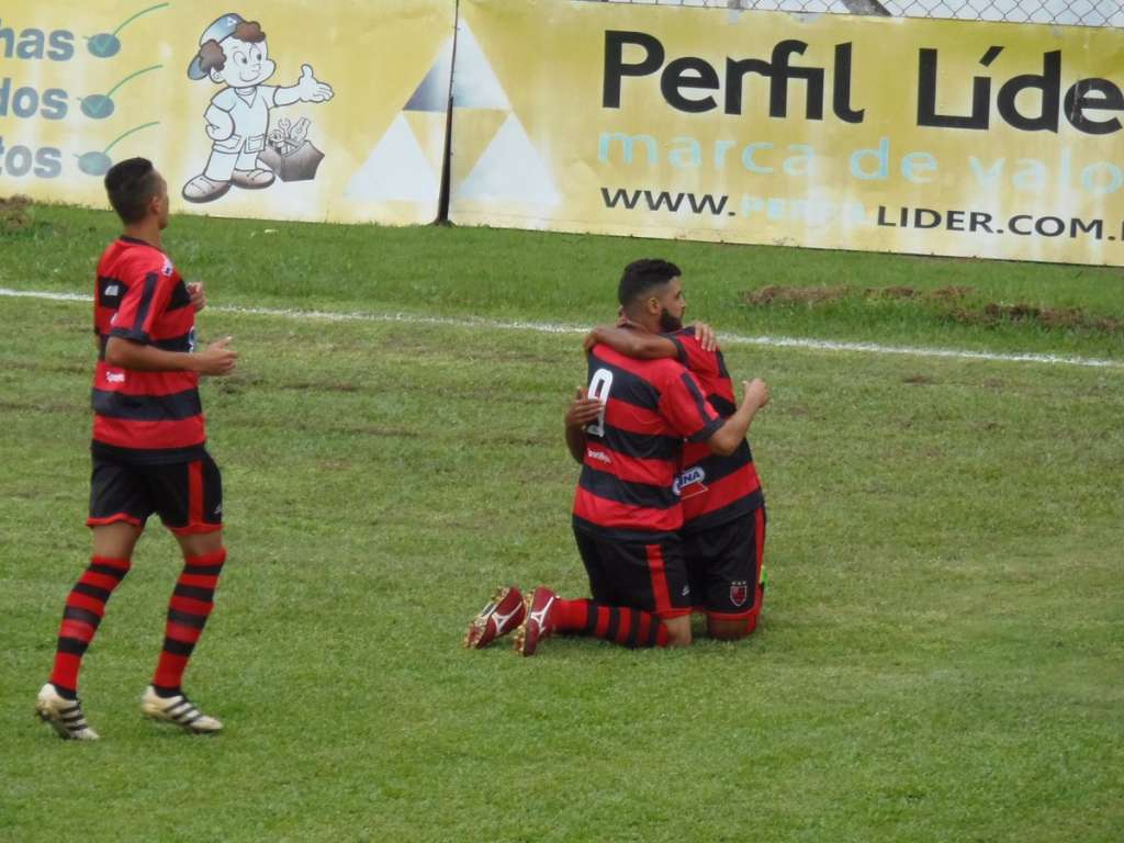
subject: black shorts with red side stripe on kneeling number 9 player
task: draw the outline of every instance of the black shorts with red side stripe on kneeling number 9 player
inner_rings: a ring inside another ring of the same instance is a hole
[[[578,527],[578,552],[596,602],[626,606],[672,618],[691,614],[691,590],[679,537],[661,533],[658,541],[609,540]]]

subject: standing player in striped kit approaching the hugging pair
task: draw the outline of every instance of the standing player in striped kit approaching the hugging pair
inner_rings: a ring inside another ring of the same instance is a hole
[[[223,724],[196,708],[180,685],[226,560],[221,478],[205,448],[199,375],[229,374],[237,355],[229,337],[194,352],[203,290],[185,284],[163,252],[164,179],[149,161],[129,158],[112,166],[105,183],[124,234],[102,254],[94,291],[99,353],[87,520],[93,555],[66,598],[54,669],[35,709],[63,738],[98,738],[78,698],[79,669],[155,513],[179,542],[184,565],[140,710],[189,732],[215,733]]]

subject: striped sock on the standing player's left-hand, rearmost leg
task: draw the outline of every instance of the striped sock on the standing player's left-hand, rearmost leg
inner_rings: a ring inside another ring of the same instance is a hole
[[[78,696],[82,656],[93,641],[101,618],[106,616],[109,596],[128,572],[127,559],[91,556],[90,566],[82,572],[66,597],[63,623],[58,627],[55,665],[51,671],[51,682],[62,696],[70,699]]]

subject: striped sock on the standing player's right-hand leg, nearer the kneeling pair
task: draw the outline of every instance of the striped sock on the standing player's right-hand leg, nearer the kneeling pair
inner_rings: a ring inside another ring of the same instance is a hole
[[[226,561],[226,549],[202,556],[187,556],[167,605],[164,649],[160,653],[152,683],[157,694],[179,694],[191,651],[203,634],[215,608],[215,589]]]

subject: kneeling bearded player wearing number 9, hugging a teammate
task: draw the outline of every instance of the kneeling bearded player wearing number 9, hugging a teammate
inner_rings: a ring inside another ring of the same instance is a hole
[[[687,303],[679,275],[665,261],[625,268],[618,299],[638,332],[659,338],[682,327]],[[683,443],[722,457],[737,453],[769,390],[760,380],[744,383],[741,405],[723,418],[676,356],[629,356],[606,343],[590,345],[589,386],[571,404],[565,435],[582,465],[573,533],[592,599],[564,600],[544,587],[520,599],[515,587],[500,589],[473,620],[468,646],[484,646],[513,629],[524,655],[553,634],[626,646],[691,643],[696,598],[677,490]]]

